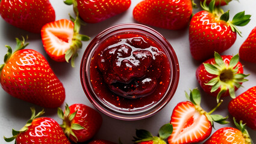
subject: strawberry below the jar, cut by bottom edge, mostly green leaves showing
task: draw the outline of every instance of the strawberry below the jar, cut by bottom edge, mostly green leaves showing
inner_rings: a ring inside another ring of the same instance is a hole
[[[158,136],[152,136],[147,130],[136,130],[136,137],[134,137],[134,143],[137,144],[166,144],[164,141],[170,134],[172,134],[172,124],[168,123],[163,125],[159,131]]]

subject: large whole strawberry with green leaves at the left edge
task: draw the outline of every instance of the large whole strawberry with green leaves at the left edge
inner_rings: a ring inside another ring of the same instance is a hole
[[[13,97],[43,107],[58,107],[65,99],[65,90],[45,57],[36,50],[24,49],[28,44],[16,38],[14,53],[11,47],[0,66],[2,88]]]

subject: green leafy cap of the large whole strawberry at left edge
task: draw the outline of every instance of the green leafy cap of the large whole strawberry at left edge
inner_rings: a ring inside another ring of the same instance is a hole
[[[14,52],[17,52],[18,50],[25,49],[25,47],[28,46],[28,43],[25,44],[25,38],[22,37],[22,40],[19,40],[19,38],[16,38],[16,47],[14,49]],[[8,61],[8,59],[11,58],[11,55],[13,54],[13,50],[10,46],[5,45],[7,47],[7,53],[4,56],[4,64],[0,65],[0,71],[2,71],[2,68],[4,68],[5,63]]]

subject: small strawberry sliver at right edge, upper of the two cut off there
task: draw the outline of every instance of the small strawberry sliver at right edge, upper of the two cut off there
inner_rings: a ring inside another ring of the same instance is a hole
[[[252,29],[248,38],[239,49],[239,56],[243,61],[256,63],[256,27]]]

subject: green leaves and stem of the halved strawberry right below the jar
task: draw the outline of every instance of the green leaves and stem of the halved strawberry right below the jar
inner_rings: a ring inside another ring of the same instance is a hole
[[[211,110],[210,112],[205,112],[204,109],[202,109],[202,107],[200,106],[201,103],[201,94],[199,92],[199,90],[197,88],[190,90],[190,94],[187,94],[187,92],[185,92],[186,97],[188,100],[190,100],[194,106],[195,109],[201,113],[201,115],[205,115],[208,119],[208,121],[211,122],[211,125],[214,127],[213,122],[217,122],[219,124],[228,124],[229,122],[226,121],[226,119],[228,119],[228,116],[226,116],[225,118],[221,115],[211,115],[211,113],[213,113],[222,103],[223,100],[220,101],[220,103],[217,104],[216,107],[214,107],[213,110]]]

